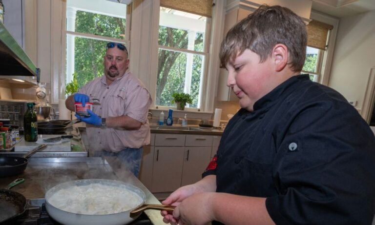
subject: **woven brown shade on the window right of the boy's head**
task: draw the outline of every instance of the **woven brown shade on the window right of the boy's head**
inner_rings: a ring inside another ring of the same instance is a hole
[[[307,25],[307,45],[309,47],[326,50],[328,31],[333,29],[332,25],[316,20],[311,20]]]

